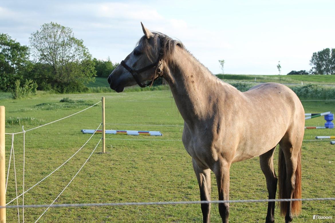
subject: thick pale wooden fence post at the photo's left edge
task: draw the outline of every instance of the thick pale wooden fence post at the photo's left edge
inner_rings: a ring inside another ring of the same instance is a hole
[[[0,106],[0,206],[6,206],[5,107]],[[0,208],[0,222],[6,223],[6,208]]]

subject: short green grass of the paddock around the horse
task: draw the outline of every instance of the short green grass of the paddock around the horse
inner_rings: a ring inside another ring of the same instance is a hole
[[[161,131],[163,136],[107,135],[107,154],[93,153],[82,171],[57,199],[62,203],[110,203],[199,200],[199,189],[192,169],[192,160],[181,141],[136,141],[117,139],[180,140],[182,127],[126,126],[123,124],[183,125],[169,91],[125,92],[104,94],[42,95],[38,98],[11,100],[6,107],[6,132],[21,131],[73,114],[106,97],[108,129]],[[68,97],[72,103],[60,100]],[[303,102],[306,113],[335,111],[335,102]],[[95,129],[101,122],[101,104],[78,115],[26,133],[25,189],[43,179],[68,159],[90,137],[81,129]],[[323,125],[321,117],[306,121],[306,125]],[[305,140],[316,135],[335,135],[334,129],[306,130]],[[22,191],[22,134],[14,137],[18,190]],[[92,152],[100,135],[52,176],[27,192],[25,204],[50,204],[68,184]],[[11,135],[6,135],[6,166],[11,147]],[[277,152],[275,153],[277,166]],[[276,168],[277,169],[277,168]],[[302,156],[303,198],[334,197],[335,146],[329,140],[305,141]],[[15,182],[11,163],[7,202],[15,197]],[[234,163],[230,170],[230,199],[266,199],[265,177],[258,158]],[[212,200],[217,200],[215,177],[212,174]],[[19,199],[22,203],[22,199]],[[11,203],[12,205],[16,203]],[[267,204],[230,204],[230,222],[264,222]],[[26,208],[25,221],[35,222],[45,209]],[[313,222],[313,215],[333,216],[334,201],[303,202],[302,214],[294,222]],[[276,222],[283,222],[275,210]],[[22,221],[22,210],[20,211]],[[212,222],[220,222],[217,204],[212,205]],[[200,205],[120,206],[89,208],[52,208],[40,222],[201,222]],[[15,209],[7,209],[7,222],[17,222]],[[326,221],[324,221],[326,222]]]

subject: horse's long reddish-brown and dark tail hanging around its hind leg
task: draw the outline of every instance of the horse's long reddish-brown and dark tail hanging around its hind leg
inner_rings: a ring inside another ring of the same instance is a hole
[[[279,147],[278,155],[278,181],[279,181],[279,199],[287,198],[286,188],[286,163],[283,150]],[[292,198],[301,199],[301,148],[297,156],[297,167],[295,171],[295,185]],[[289,202],[280,202],[280,215],[285,216]],[[298,215],[301,212],[302,202],[292,201],[292,215]]]

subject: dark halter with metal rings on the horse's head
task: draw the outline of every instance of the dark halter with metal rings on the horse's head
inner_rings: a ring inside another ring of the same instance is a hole
[[[142,69],[139,69],[139,70],[133,70],[133,69],[131,69],[130,67],[128,67],[128,66],[126,65],[126,63],[125,63],[124,61],[121,61],[121,65],[122,65],[127,71],[129,71],[129,73],[131,73],[131,75],[132,75],[133,78],[135,79],[136,83],[137,83],[141,88],[145,88],[146,86],[149,86],[149,85],[150,85],[150,87],[151,87],[152,84],[153,84],[153,82],[154,82],[157,78],[159,78],[160,76],[163,75],[163,71],[162,71],[161,68],[160,68],[160,65],[162,64],[161,58],[162,58],[162,54],[159,54],[159,57],[158,57],[156,63],[151,64],[151,65],[149,65],[149,66],[146,66],[146,67],[144,67],[144,68],[142,68]],[[155,74],[154,74],[154,76],[153,76],[153,79],[152,79],[151,83],[149,82],[148,84],[144,84],[144,85],[143,85],[143,84],[140,82],[140,80],[139,80],[138,74],[139,74],[139,73],[142,73],[143,71],[149,70],[150,68],[155,68]],[[158,72],[158,76],[156,77],[157,69],[159,70],[159,72]]]

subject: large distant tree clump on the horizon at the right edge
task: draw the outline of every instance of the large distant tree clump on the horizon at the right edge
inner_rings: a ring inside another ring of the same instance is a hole
[[[314,52],[310,60],[312,74],[335,74],[335,49],[325,48]]]

